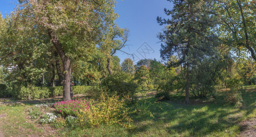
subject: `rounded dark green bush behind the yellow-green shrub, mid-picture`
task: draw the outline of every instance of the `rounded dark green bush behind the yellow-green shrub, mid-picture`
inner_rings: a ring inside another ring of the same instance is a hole
[[[103,86],[110,95],[117,94],[122,97],[133,97],[137,88],[133,80],[133,75],[125,72],[117,72],[108,75],[101,81],[100,85]]]

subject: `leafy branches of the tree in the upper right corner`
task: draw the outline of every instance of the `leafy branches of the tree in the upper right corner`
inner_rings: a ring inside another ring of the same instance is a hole
[[[213,0],[213,11],[220,18],[217,32],[225,45],[233,50],[250,52],[256,60],[254,0]]]

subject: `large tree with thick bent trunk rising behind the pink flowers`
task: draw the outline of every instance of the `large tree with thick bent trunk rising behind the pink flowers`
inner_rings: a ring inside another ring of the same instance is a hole
[[[16,17],[29,29],[48,34],[61,58],[63,100],[71,100],[71,63],[88,58],[96,49],[100,30],[113,26],[115,0],[19,0]],[[36,25],[26,24],[32,20]]]

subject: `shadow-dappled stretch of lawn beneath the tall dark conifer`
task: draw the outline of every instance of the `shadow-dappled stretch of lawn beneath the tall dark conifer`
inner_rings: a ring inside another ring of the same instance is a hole
[[[137,128],[133,133],[143,136],[147,132],[165,129],[173,136],[237,136],[246,126],[240,123],[255,113],[256,91],[245,92],[241,108],[225,105],[223,97],[219,100],[191,98],[192,105],[184,104],[184,96],[174,97],[172,101],[156,104],[152,98],[143,99],[152,104],[149,110],[155,118],[134,115]]]

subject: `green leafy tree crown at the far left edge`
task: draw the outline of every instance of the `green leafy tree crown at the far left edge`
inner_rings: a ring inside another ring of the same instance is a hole
[[[27,23],[32,24],[32,21]],[[47,66],[49,39],[36,30],[29,30],[13,12],[5,19],[0,17],[0,24],[0,64],[6,68],[17,66],[8,79],[19,86],[35,83]]]

